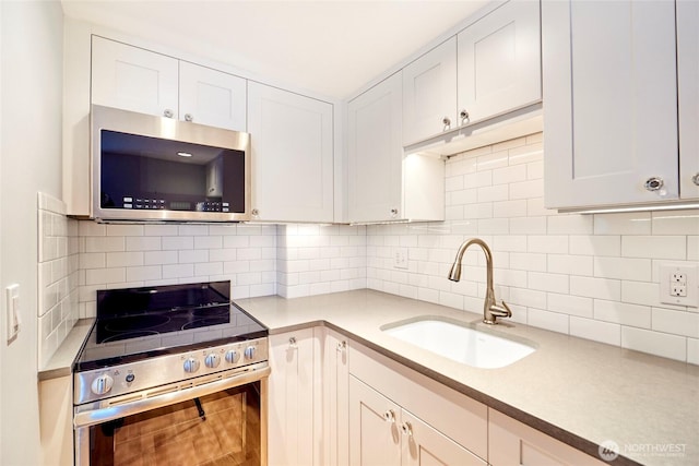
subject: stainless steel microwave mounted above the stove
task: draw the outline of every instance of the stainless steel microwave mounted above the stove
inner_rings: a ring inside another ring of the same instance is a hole
[[[250,219],[250,135],[92,106],[93,217]]]

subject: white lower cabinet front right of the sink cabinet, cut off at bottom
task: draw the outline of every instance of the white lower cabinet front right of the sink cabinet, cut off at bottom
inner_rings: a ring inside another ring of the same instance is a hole
[[[488,413],[488,462],[493,466],[607,464],[495,409]]]

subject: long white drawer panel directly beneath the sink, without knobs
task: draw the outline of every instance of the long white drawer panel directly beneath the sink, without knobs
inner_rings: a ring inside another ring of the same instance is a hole
[[[487,407],[371,349],[350,348],[350,373],[482,458]]]

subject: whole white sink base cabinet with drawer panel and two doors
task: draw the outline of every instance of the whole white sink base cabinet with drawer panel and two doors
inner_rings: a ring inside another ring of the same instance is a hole
[[[485,465],[487,453],[485,405],[350,347],[351,465]]]

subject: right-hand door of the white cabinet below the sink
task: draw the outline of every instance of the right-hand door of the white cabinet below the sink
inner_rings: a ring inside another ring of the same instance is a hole
[[[406,410],[401,413],[403,466],[485,466],[486,463]]]

